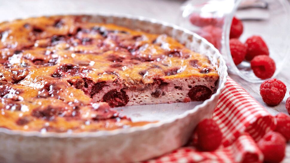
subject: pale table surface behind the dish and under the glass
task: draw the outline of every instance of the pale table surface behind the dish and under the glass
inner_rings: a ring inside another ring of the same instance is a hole
[[[30,16],[107,12],[145,16],[174,24],[178,19],[179,7],[183,2],[182,0],[0,0],[0,22]],[[260,84],[249,83],[233,74],[230,76],[250,92],[271,114],[276,115],[278,112],[287,114],[285,102],[290,90],[289,72],[289,64],[285,64],[283,71],[276,77],[286,84],[287,93],[283,102],[274,107],[263,103],[259,93]],[[283,163],[290,162],[290,144],[288,144],[286,153],[287,158]]]

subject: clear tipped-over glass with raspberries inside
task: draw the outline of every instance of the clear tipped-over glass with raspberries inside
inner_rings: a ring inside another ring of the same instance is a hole
[[[196,16],[205,18],[202,21]],[[253,83],[262,82],[243,61],[235,65],[229,47],[233,16],[243,22],[241,42],[253,35],[261,36],[276,63],[276,76],[290,55],[290,5],[287,0],[189,0],[181,7],[177,23],[211,42],[223,55],[230,73]],[[208,36],[204,31],[214,31]]]

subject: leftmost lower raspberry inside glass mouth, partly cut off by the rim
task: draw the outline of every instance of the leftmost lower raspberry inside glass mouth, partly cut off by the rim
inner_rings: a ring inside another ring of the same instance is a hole
[[[230,50],[233,57],[233,62],[236,65],[240,64],[245,59],[247,47],[238,39],[230,39]]]

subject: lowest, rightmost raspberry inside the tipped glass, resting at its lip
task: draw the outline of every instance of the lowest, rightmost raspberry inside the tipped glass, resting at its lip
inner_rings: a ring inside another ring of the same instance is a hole
[[[269,56],[258,55],[251,60],[251,68],[257,77],[268,79],[275,73],[276,65],[274,60]]]

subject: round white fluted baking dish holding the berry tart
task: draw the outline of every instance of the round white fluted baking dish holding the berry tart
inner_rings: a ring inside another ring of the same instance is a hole
[[[157,123],[112,131],[41,133],[0,128],[0,162],[113,163],[138,162],[184,145],[196,124],[212,116],[228,76],[216,48],[195,33],[165,22],[129,15],[83,15],[84,21],[114,23],[149,33],[167,34],[187,48],[209,57],[220,75],[217,91],[204,102],[117,108],[133,121]],[[123,111],[122,111],[123,110]]]

